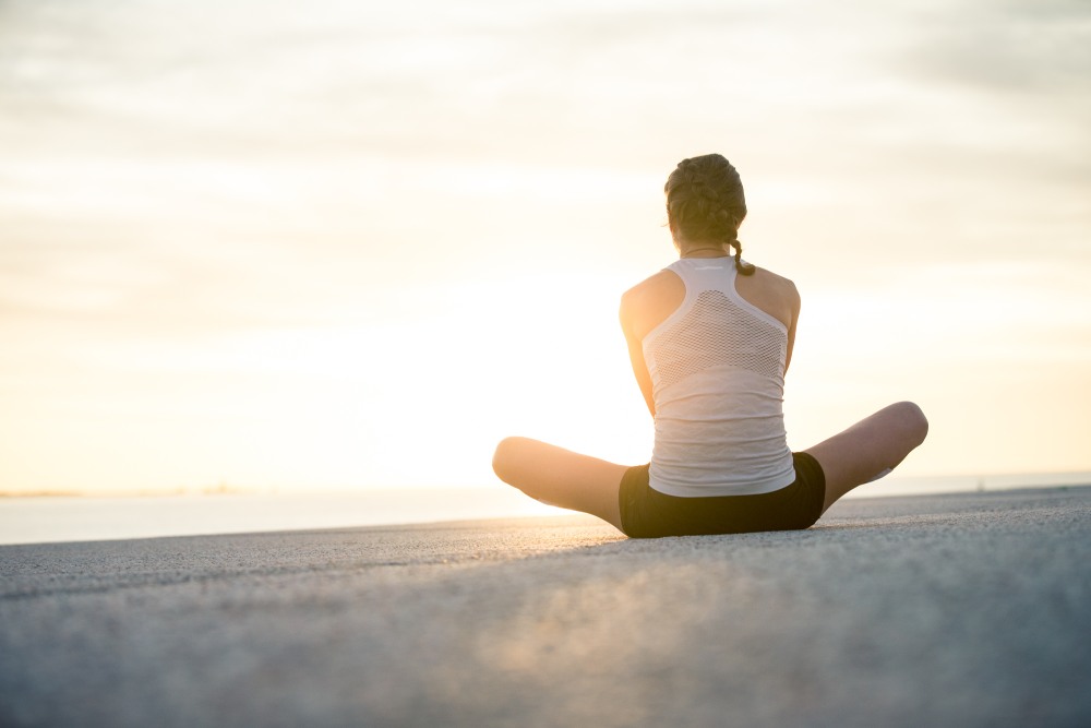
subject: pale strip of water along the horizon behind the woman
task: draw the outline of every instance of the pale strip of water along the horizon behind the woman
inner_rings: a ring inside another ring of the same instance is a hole
[[[848,498],[1091,485],[1091,473],[895,477]],[[0,498],[0,544],[305,530],[566,513],[501,485],[488,488],[200,496]]]

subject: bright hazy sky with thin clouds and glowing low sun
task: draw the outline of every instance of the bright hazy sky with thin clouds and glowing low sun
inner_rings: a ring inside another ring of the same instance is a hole
[[[1091,470],[1091,5],[0,0],[0,492],[646,462],[616,324],[720,152],[802,450]]]

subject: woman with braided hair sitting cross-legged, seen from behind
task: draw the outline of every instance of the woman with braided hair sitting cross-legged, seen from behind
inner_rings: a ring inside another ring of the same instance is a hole
[[[507,438],[493,469],[531,498],[631,537],[807,528],[897,466],[924,441],[927,420],[901,402],[792,453],[782,403],[795,285],[742,260],[746,202],[726,158],[683,159],[666,192],[680,258],[621,301],[633,372],[655,418],[651,462],[627,467]]]

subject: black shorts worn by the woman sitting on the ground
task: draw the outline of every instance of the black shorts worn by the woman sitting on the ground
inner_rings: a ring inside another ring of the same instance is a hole
[[[792,453],[795,481],[771,493],[679,498],[648,485],[648,466],[626,470],[618,493],[622,530],[630,538],[746,534],[810,528],[822,515],[826,476],[807,453]]]

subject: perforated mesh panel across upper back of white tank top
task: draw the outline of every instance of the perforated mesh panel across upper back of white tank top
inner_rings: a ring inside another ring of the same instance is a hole
[[[727,366],[782,375],[784,332],[718,290],[705,290],[686,313],[651,343],[661,386],[694,372]]]

